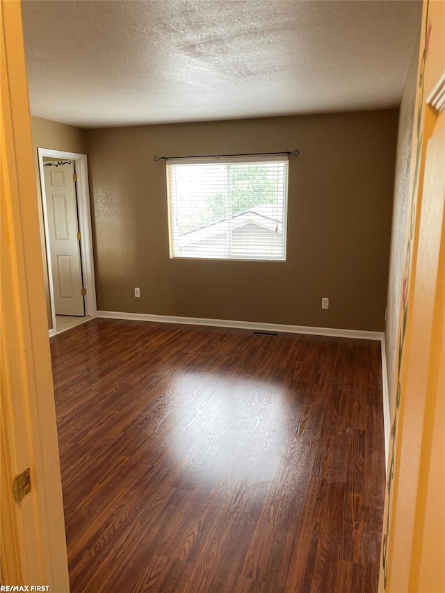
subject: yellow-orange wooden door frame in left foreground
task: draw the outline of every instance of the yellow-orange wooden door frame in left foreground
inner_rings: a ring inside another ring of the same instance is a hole
[[[0,87],[2,580],[69,593],[22,15],[8,0],[0,0]],[[26,468],[31,492],[17,502],[13,481]]]

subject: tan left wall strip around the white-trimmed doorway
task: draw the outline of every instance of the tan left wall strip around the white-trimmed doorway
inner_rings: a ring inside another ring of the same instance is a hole
[[[52,150],[63,150],[65,152],[78,152],[80,154],[85,154],[86,145],[83,138],[83,130],[80,128],[67,126],[66,124],[59,124],[58,122],[51,122],[50,120],[43,120],[42,117],[31,117],[31,127],[33,131],[35,184],[37,186],[38,193],[40,236],[42,239],[42,258],[44,261],[44,288],[47,298],[48,327],[51,330],[52,320],[49,304],[47,252],[44,244],[42,195],[40,192],[40,174],[37,149],[49,148]]]

